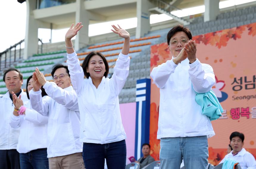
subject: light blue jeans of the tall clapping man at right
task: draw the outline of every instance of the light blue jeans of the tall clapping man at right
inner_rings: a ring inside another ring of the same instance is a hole
[[[160,169],[180,169],[182,158],[186,169],[206,169],[207,136],[161,138]]]

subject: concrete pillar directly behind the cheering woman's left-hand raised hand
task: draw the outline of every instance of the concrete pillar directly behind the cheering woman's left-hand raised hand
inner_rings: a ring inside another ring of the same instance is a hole
[[[89,44],[88,30],[89,30],[89,14],[88,11],[85,10],[84,0],[76,1],[76,23],[82,22],[82,29],[79,30],[76,35],[74,49],[78,51],[79,49],[85,47]]]

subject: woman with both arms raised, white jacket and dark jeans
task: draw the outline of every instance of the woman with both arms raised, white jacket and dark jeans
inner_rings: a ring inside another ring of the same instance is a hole
[[[114,33],[124,38],[124,46],[110,79],[107,60],[99,52],[90,52],[80,66],[71,38],[82,28],[81,23],[74,28],[72,24],[65,35],[68,69],[78,97],[86,169],[104,169],[104,159],[108,169],[124,169],[126,165],[126,134],[118,94],[129,73],[130,35],[119,25],[112,27]]]

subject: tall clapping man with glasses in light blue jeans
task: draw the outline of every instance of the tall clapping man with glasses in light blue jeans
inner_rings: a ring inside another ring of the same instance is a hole
[[[188,27],[177,25],[167,34],[172,58],[151,72],[160,88],[157,139],[160,168],[206,169],[207,138],[215,135],[209,117],[196,103],[196,92],[209,92],[215,83],[213,68],[196,58],[196,42]]]

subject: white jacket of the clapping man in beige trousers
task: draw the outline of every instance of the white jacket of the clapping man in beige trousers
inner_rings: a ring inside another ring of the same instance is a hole
[[[61,89],[54,82],[46,82],[43,88],[49,99],[42,100],[41,90],[31,90],[29,97],[32,108],[49,117],[47,157],[82,152],[82,142],[79,141],[80,115],[73,87]]]

